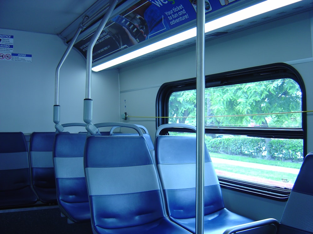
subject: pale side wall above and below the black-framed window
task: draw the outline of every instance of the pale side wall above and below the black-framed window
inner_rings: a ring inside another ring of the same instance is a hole
[[[207,41],[205,74],[311,58],[310,28],[310,12],[304,12]],[[305,80],[307,90],[312,85],[310,65],[311,63],[294,65]],[[195,76],[195,46],[123,68],[120,70],[121,112],[124,113],[123,100],[126,99],[128,115],[155,116],[159,87],[165,82]],[[313,94],[307,91],[306,95],[308,110],[313,110],[313,104],[309,102]],[[308,121],[312,123],[313,116],[308,115]],[[129,118],[126,122],[145,125],[154,140],[155,119]],[[313,136],[309,133],[308,142],[312,140]],[[313,149],[308,150],[313,151]],[[228,189],[223,189],[223,197],[228,209],[255,220],[268,217],[280,220],[285,207],[285,202]]]

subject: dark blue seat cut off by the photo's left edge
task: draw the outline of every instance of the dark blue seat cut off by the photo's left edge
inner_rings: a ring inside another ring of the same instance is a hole
[[[31,187],[28,160],[22,132],[0,133],[0,207],[37,202],[38,198]]]

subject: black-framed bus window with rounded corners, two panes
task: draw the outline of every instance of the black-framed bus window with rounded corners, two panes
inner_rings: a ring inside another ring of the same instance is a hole
[[[288,196],[306,153],[304,97],[285,64],[206,76],[205,144],[222,186]],[[157,115],[196,125],[195,79],[162,85]]]

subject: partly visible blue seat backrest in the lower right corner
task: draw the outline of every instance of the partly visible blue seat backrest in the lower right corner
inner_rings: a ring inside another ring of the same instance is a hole
[[[305,156],[280,220],[279,233],[313,233],[313,153]]]

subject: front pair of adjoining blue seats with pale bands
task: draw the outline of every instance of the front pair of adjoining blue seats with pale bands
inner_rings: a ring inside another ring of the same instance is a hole
[[[174,126],[157,130],[155,158],[140,131],[87,138],[84,169],[94,233],[196,232],[196,138],[158,135]],[[207,150],[205,161],[204,233],[252,222],[225,208]]]

